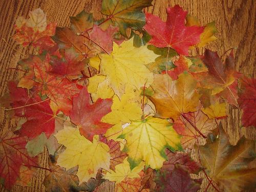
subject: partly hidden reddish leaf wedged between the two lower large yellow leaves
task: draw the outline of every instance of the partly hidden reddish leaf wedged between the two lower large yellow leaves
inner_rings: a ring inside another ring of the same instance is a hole
[[[114,140],[108,141],[108,145],[110,147],[110,168],[115,170],[115,166],[122,163],[124,159],[127,157],[127,154],[120,151],[120,142],[116,142]]]

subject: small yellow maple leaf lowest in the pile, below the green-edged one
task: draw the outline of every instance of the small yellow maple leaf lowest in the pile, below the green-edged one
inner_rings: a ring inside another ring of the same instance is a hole
[[[141,162],[138,166],[134,167],[132,170],[130,164],[127,161],[127,157],[123,160],[123,163],[115,166],[114,170],[107,172],[103,179],[108,179],[110,181],[115,181],[116,184],[122,182],[125,178],[138,178],[140,177],[138,173],[144,168],[144,163]]]

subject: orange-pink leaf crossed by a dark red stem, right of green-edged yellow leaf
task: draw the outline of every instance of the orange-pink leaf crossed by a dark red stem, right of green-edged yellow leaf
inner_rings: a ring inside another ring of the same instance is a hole
[[[184,148],[193,146],[202,135],[205,136],[210,133],[212,126],[214,126],[214,121],[209,119],[200,110],[180,116],[179,119],[175,120],[173,125],[175,131],[182,136],[181,145]]]

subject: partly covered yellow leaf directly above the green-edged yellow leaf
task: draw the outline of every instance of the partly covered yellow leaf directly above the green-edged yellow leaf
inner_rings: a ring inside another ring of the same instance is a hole
[[[127,123],[132,120],[138,120],[142,116],[142,110],[137,102],[131,102],[134,92],[126,91],[119,99],[116,95],[113,97],[111,112],[102,118],[102,122],[117,124],[119,122]]]

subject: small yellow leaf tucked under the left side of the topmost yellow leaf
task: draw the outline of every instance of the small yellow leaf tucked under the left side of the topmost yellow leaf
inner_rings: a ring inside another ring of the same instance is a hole
[[[106,99],[114,95],[114,91],[109,87],[109,81],[104,75],[95,75],[89,78],[88,92],[91,93],[93,102],[98,98]]]

